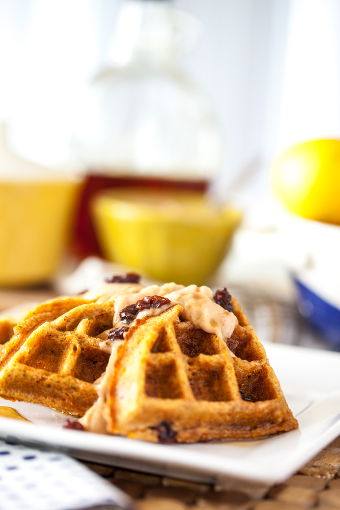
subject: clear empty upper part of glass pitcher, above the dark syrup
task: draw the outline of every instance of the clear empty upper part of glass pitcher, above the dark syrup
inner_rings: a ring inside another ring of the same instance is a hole
[[[166,0],[128,0],[111,63],[93,79],[72,150],[109,175],[211,180],[220,133],[205,95],[180,67],[200,22]]]

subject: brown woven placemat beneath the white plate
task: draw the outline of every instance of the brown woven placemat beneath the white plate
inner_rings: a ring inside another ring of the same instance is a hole
[[[131,496],[138,510],[302,510],[340,508],[340,436],[298,473],[259,497],[252,484],[238,490],[85,463]]]

